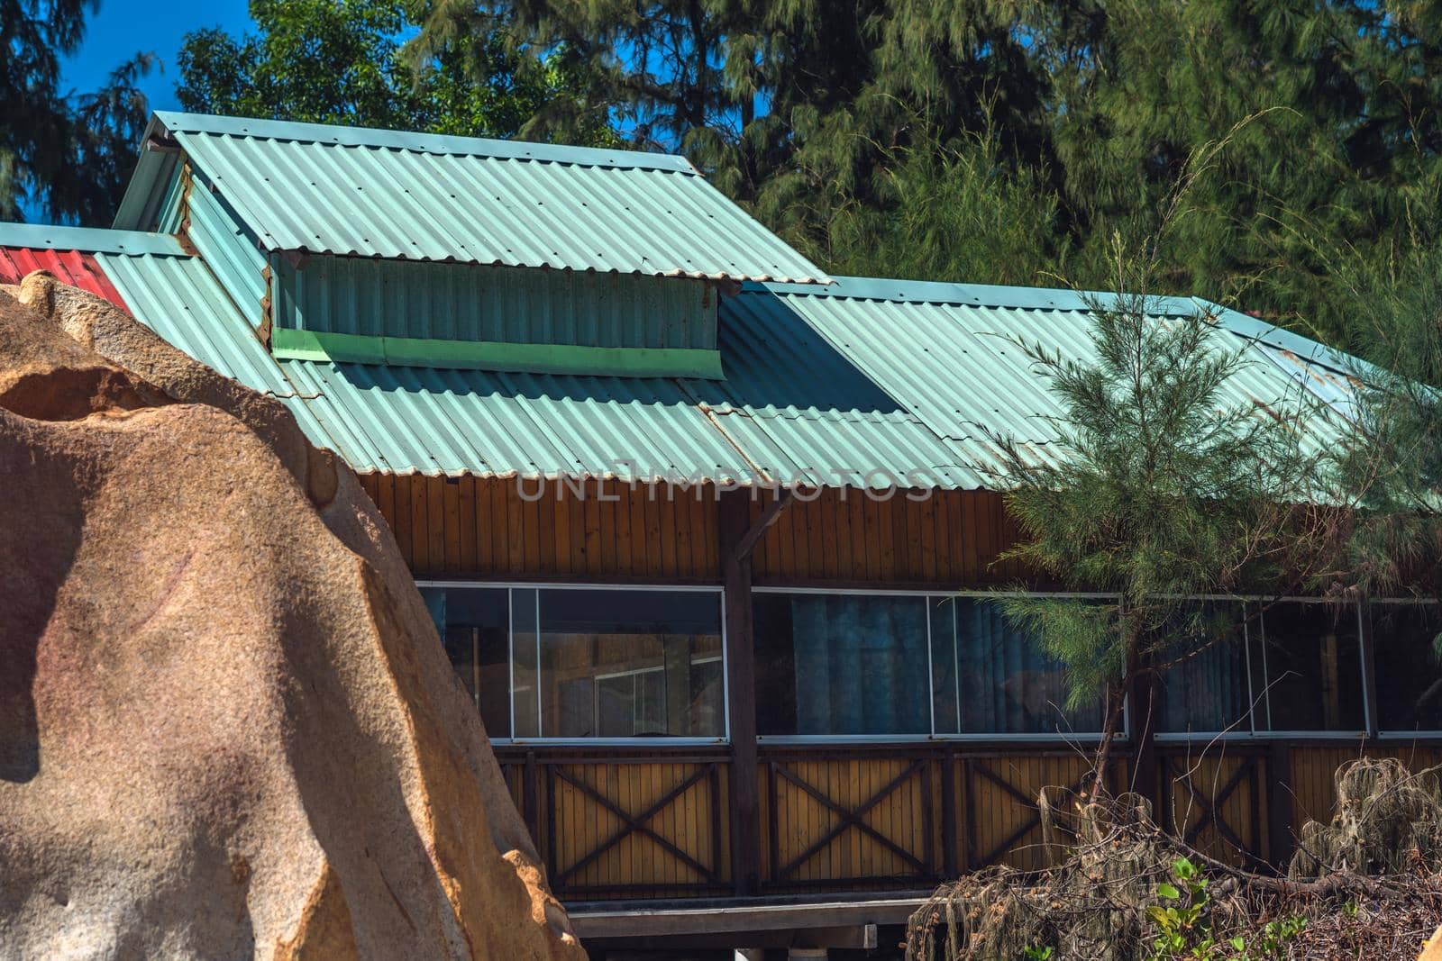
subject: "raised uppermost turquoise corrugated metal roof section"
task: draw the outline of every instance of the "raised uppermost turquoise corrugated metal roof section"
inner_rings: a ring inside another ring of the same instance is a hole
[[[172,112],[153,130],[265,249],[829,282],[681,157]],[[143,154],[131,190],[162,163]],[[150,226],[144,207],[127,195],[117,226]]]

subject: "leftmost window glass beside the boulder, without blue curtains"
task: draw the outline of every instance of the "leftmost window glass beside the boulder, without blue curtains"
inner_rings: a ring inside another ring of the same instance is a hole
[[[725,736],[718,591],[423,594],[495,738]]]

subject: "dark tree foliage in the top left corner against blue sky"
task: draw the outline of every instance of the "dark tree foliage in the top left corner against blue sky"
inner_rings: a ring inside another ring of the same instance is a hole
[[[105,223],[114,215],[147,120],[137,53],[89,94],[62,91],[61,61],[79,49],[85,0],[0,0],[0,219],[23,203],[56,220]]]

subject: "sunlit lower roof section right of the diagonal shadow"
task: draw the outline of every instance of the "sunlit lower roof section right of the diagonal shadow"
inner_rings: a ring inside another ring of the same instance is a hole
[[[995,464],[983,428],[1015,438],[1035,457],[1047,457],[1056,441],[1048,418],[1061,408],[1015,339],[1040,341],[1063,357],[1086,360],[1093,354],[1087,304],[1070,291],[841,278],[826,291],[748,288],[740,300],[751,297],[761,297],[776,317],[803,317],[877,388],[953,444],[965,464]],[[1210,305],[1168,298],[1155,307],[1165,317]],[[1259,321],[1229,311],[1217,310],[1217,318],[1223,331],[1217,346],[1246,350],[1250,357],[1224,386],[1226,403],[1296,411],[1305,401],[1301,406],[1309,411],[1311,445],[1341,439],[1345,421],[1332,412],[1343,408],[1335,396],[1317,389],[1325,385],[1335,390],[1344,380],[1337,369],[1319,363],[1340,360],[1335,352],[1325,357],[1314,353],[1309,363],[1288,352],[1306,369],[1304,377],[1296,366],[1288,370],[1278,363],[1282,349],[1276,343],[1299,347],[1312,341],[1285,331],[1278,340],[1270,330],[1259,330]]]

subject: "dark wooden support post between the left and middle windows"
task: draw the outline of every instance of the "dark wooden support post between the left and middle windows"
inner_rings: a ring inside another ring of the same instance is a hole
[[[731,877],[738,896],[756,895],[761,875],[756,782],[756,648],[751,635],[751,497],[721,491],[717,503],[721,579],[725,586],[727,703],[731,712]],[[751,545],[754,545],[754,539]]]

